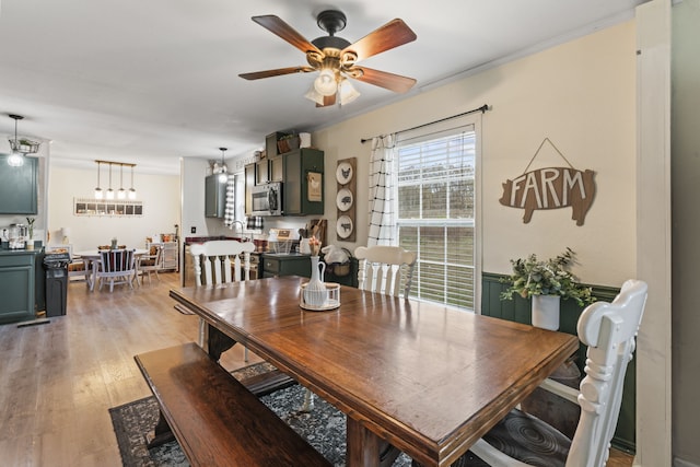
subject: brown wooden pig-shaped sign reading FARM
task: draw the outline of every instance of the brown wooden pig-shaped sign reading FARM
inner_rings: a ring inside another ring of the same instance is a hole
[[[528,223],[536,209],[571,207],[571,219],[583,225],[595,198],[595,172],[573,167],[548,167],[526,172],[505,180],[501,205],[525,209],[523,222]]]

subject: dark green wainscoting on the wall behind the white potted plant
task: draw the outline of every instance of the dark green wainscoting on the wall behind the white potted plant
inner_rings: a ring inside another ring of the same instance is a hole
[[[530,300],[521,296],[513,296],[513,300],[501,300],[501,293],[508,289],[508,284],[502,280],[506,276],[483,272],[481,275],[481,314],[493,316],[510,322],[532,324],[530,319]],[[598,301],[611,302],[615,300],[620,289],[610,287],[592,285],[593,294]],[[583,312],[583,307],[579,306],[573,300],[561,301],[561,316],[559,330],[562,332],[576,335],[576,323],[579,316]],[[576,352],[576,365],[583,375],[583,366],[585,365],[586,351],[585,346],[581,345]],[[622,407],[620,409],[620,418],[617,423],[612,445],[623,451],[634,452],[635,434],[634,423],[637,407],[637,361],[632,359],[625,375],[625,389],[622,394]]]

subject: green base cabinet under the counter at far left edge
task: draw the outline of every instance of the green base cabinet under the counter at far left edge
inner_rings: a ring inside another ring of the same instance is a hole
[[[36,252],[0,252],[0,324],[35,318]]]

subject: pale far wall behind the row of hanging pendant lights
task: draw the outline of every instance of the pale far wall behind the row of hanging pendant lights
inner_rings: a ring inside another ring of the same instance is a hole
[[[102,173],[102,188],[108,180]],[[119,188],[119,175],[113,172],[113,188]],[[131,183],[129,172],[129,184]],[[179,219],[179,177],[135,172],[137,200],[143,202],[142,217],[73,215],[73,198],[92,198],[97,184],[97,166],[93,171],[51,165],[48,188],[48,230],[51,243],[60,243],[58,230],[71,229],[73,250],[94,249],[117,237],[119,244],[142,248],[147,236],[173,233]],[[126,184],[126,173],[125,173]],[[125,186],[125,188],[129,188]]]

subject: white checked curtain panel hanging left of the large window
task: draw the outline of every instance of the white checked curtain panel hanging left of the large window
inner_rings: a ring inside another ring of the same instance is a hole
[[[368,246],[397,245],[394,203],[394,135],[372,138]]]

